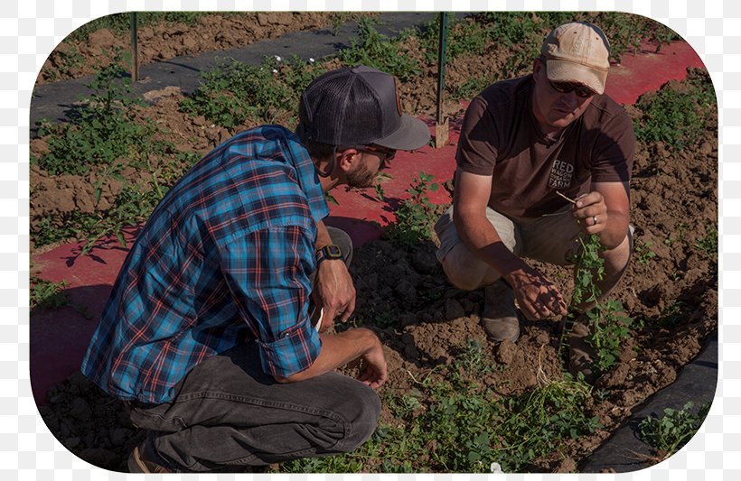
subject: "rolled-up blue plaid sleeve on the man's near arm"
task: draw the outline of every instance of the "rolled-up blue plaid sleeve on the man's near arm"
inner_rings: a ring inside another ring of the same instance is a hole
[[[313,237],[299,226],[267,227],[225,251],[222,271],[242,318],[257,331],[263,370],[287,377],[312,365],[322,346],[308,316]]]

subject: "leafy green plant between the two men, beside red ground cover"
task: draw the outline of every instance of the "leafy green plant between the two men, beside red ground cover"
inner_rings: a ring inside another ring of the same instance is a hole
[[[389,239],[409,247],[429,238],[436,207],[427,197],[427,192],[435,192],[440,187],[437,183],[430,183],[433,179],[433,175],[424,171],[419,172],[419,177],[413,178],[407,190],[411,198],[404,200],[394,211],[397,222],[386,230]]]

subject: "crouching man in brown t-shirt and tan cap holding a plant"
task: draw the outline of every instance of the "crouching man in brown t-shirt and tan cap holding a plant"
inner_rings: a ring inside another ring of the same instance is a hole
[[[604,95],[608,59],[595,25],[561,25],[532,74],[484,89],[465,113],[453,206],[436,223],[437,258],[455,286],[486,286],[482,320],[492,340],[519,337],[515,300],[527,319],[566,313],[558,287],[526,258],[571,264],[577,236],[596,234],[606,247],[605,294],[628,264],[633,124]],[[588,334],[583,325],[574,332]],[[570,354],[572,372],[588,378],[588,350]]]

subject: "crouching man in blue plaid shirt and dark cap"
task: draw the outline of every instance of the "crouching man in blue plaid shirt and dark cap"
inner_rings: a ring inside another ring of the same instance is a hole
[[[155,208],[82,364],[148,430],[133,472],[259,466],[371,436],[386,360],[369,329],[329,332],[355,291],[324,192],[368,187],[396,150],[427,143],[398,96],[378,70],[328,72],[305,90],[296,134],[237,134]],[[359,380],[333,372],[354,360]]]

